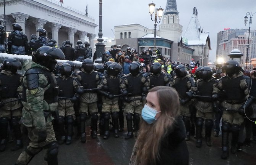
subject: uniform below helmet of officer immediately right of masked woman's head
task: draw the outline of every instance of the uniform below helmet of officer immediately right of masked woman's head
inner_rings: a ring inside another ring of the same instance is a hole
[[[193,103],[191,98],[188,98],[186,92],[196,92],[196,82],[194,78],[190,77],[190,74],[186,74],[184,77],[174,77],[173,82],[170,82],[170,87],[174,87],[180,97],[180,114],[183,117],[183,121],[186,126],[187,137],[190,139],[190,109],[189,106]]]

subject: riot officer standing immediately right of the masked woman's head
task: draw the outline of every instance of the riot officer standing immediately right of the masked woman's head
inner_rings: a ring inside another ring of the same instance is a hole
[[[196,82],[194,78],[190,77],[186,67],[178,65],[175,67],[175,74],[173,82],[170,83],[170,87],[177,90],[180,97],[180,113],[183,117],[183,121],[186,127],[186,140],[190,140],[190,110],[191,96],[197,91]]]

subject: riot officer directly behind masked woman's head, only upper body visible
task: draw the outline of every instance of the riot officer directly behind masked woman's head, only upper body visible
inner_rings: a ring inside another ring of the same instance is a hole
[[[150,67],[149,84],[150,88],[157,86],[169,86],[172,78],[168,74],[162,73],[162,65],[159,62],[154,62]]]

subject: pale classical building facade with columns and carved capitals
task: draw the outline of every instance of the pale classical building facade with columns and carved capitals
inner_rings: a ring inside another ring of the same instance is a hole
[[[0,19],[4,18],[3,6],[3,0],[0,0]],[[49,39],[55,39],[58,46],[67,39],[75,46],[77,40],[84,42],[86,37],[94,45],[97,27],[94,18],[73,8],[65,8],[55,0],[5,0],[5,11],[6,31],[13,30],[11,24],[16,22],[29,40],[32,34],[38,37],[36,29],[44,28]]]

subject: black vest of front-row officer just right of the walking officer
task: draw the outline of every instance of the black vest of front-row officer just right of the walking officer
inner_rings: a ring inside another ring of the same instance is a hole
[[[73,87],[73,77],[69,77],[68,79],[57,77],[56,80],[60,88],[60,97],[72,98],[75,95]]]

